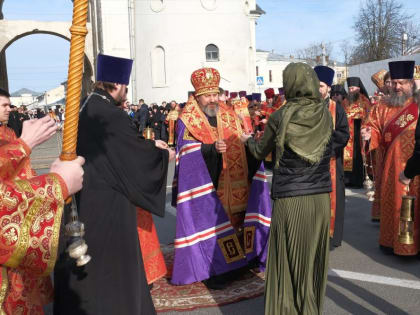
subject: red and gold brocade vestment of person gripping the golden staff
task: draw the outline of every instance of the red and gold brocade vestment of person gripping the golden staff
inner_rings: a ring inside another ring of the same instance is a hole
[[[7,129],[1,131],[0,313],[43,314],[53,297],[49,275],[67,187],[56,174],[33,177],[30,149]]]

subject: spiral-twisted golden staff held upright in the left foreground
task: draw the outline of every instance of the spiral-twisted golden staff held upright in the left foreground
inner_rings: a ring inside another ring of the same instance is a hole
[[[79,106],[82,91],[83,65],[85,58],[85,38],[88,16],[88,0],[74,0],[73,21],[70,27],[70,60],[67,79],[66,112],[63,129],[63,148],[60,155],[62,161],[77,158],[77,130],[79,125]]]

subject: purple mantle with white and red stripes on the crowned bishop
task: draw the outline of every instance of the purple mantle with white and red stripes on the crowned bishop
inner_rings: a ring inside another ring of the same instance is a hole
[[[176,206],[175,257],[171,282],[202,281],[257,259],[265,267],[271,200],[263,165],[255,174],[246,208],[244,249],[213,186],[201,154],[201,142],[185,140],[177,121],[173,206]]]

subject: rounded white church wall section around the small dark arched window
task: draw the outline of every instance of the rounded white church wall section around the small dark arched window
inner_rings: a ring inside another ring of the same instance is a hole
[[[255,88],[255,0],[136,0],[137,96],[146,103],[187,100],[191,73],[214,67],[229,91]],[[249,9],[248,9],[249,7]],[[206,46],[219,60],[206,60]]]

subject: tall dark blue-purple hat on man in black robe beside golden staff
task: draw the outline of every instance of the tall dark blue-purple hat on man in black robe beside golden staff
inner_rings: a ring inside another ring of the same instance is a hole
[[[96,81],[128,85],[133,60],[108,55],[98,55]]]

